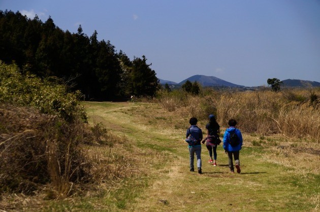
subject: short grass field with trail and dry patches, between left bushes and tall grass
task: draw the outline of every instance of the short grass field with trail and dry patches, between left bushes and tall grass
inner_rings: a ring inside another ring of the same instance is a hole
[[[183,110],[150,102],[82,104],[98,134],[82,144],[94,181],[72,185],[62,199],[50,198],[46,186],[34,195],[3,194],[0,211],[320,210],[315,139],[243,133],[241,174],[230,173],[221,146],[217,166],[210,165],[204,145],[198,174],[189,171],[184,136],[190,117]],[[199,118],[203,131],[206,122]],[[221,124],[222,133],[225,129]]]

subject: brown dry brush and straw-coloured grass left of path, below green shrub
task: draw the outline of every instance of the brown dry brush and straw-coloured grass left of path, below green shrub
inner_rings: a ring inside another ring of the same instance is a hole
[[[117,187],[123,179],[141,174],[129,154],[132,142],[102,125],[91,130],[83,123],[65,125],[55,116],[11,105],[1,105],[0,123],[2,209],[29,210],[26,202],[42,202],[35,203],[42,207],[44,199],[101,191],[106,182]]]

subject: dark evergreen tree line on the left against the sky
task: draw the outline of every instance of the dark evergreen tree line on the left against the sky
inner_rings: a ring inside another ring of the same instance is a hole
[[[160,85],[147,58],[130,60],[97,35],[88,37],[81,25],[77,33],[63,31],[51,17],[42,22],[0,10],[0,60],[17,64],[22,74],[63,79],[86,99],[153,96]]]

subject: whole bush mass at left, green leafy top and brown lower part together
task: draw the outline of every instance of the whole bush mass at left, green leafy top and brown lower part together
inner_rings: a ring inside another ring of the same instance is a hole
[[[0,191],[31,194],[50,183],[57,198],[90,178],[79,96],[59,79],[22,74],[0,61]]]

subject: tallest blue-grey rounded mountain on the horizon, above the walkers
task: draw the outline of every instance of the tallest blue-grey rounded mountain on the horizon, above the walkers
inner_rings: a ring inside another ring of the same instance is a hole
[[[243,85],[236,85],[225,80],[221,80],[216,77],[208,77],[204,75],[195,75],[189,77],[188,79],[183,80],[182,82],[178,83],[179,85],[184,84],[186,81],[195,82],[197,81],[202,86],[227,86],[227,87],[245,87]]]

